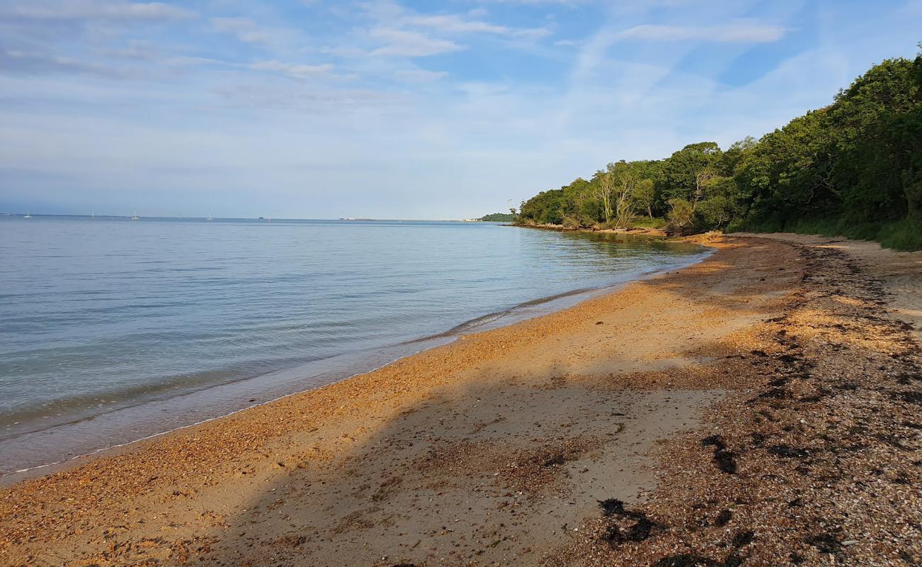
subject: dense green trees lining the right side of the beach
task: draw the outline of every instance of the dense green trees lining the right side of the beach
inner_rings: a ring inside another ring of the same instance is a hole
[[[922,54],[871,67],[833,104],[759,140],[609,163],[523,202],[516,221],[793,230],[922,249]]]

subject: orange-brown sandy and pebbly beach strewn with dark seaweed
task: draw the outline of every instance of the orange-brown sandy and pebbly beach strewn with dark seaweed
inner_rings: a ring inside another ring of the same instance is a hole
[[[916,565],[922,253],[703,263],[0,490],[2,565]]]

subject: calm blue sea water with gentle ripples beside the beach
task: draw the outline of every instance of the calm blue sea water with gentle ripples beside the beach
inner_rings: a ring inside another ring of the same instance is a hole
[[[328,384],[703,254],[489,223],[0,217],[0,474]]]

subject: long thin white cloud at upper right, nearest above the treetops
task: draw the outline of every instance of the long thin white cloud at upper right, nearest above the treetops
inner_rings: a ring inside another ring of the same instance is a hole
[[[621,39],[651,41],[721,41],[764,43],[780,40],[786,28],[739,21],[720,26],[657,26],[644,24],[623,30]]]

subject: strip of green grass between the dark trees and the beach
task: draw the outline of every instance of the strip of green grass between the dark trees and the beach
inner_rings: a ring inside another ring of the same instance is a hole
[[[845,219],[800,219],[792,223],[748,222],[731,227],[730,232],[796,232],[844,236],[853,240],[880,242],[884,248],[914,252],[922,250],[922,223],[913,220],[888,222],[850,222]]]

